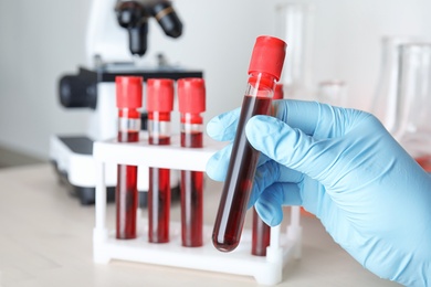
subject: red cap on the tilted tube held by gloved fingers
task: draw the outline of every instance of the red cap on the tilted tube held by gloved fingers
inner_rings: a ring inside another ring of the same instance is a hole
[[[257,36],[254,43],[249,74],[253,72],[267,73],[280,79],[287,44],[274,36]]]

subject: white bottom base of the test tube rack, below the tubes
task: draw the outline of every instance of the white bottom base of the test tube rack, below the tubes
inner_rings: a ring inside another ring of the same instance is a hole
[[[95,263],[108,264],[113,259],[155,264],[170,267],[219,272],[252,276],[259,284],[275,285],[282,281],[284,265],[301,257],[301,230],[296,236],[282,234],[280,246],[267,247],[267,256],[251,255],[251,231],[245,230],[240,245],[231,253],[216,249],[211,242],[212,227],[206,225],[204,242],[200,247],[181,246],[181,225],[171,222],[169,243],[149,243],[148,236],[139,234],[135,240],[116,240],[115,232],[94,230],[93,258]],[[144,233],[146,230],[144,228]],[[98,238],[98,240],[97,240]],[[271,249],[272,248],[272,249]],[[274,256],[275,255],[275,256]]]

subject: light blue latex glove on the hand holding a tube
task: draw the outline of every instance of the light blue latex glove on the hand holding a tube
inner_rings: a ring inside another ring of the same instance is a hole
[[[431,177],[370,114],[318,103],[276,100],[245,134],[260,150],[251,205],[270,225],[282,205],[303,205],[333,238],[376,275],[407,286],[431,284]],[[207,126],[233,140],[240,110]],[[224,180],[231,146],[208,162]]]

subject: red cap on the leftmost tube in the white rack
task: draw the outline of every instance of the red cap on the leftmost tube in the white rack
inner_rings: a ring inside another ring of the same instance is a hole
[[[140,108],[143,106],[143,77],[116,76],[117,108]]]

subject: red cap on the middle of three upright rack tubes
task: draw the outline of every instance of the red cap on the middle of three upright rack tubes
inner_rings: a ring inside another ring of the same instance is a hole
[[[147,110],[171,111],[174,109],[174,79],[148,78]]]

